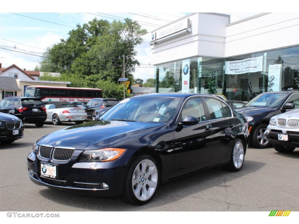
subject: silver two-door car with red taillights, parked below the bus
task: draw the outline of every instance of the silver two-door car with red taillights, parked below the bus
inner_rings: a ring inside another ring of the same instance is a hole
[[[71,103],[52,102],[45,107],[48,115],[46,121],[50,121],[54,125],[60,125],[61,122],[81,124],[87,120],[85,110]]]

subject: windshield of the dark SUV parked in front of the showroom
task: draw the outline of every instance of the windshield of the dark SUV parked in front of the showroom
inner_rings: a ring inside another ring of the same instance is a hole
[[[245,107],[278,107],[286,99],[284,93],[265,93],[254,97]]]

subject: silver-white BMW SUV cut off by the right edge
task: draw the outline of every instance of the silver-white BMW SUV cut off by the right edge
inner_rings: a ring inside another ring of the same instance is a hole
[[[299,110],[271,117],[266,135],[277,152],[290,153],[299,147]]]

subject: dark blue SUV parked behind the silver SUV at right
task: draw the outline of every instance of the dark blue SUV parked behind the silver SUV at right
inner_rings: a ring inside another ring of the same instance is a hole
[[[299,109],[299,91],[261,93],[235,110],[247,119],[251,145],[255,148],[268,148],[270,141],[266,130],[270,118],[294,108]]]

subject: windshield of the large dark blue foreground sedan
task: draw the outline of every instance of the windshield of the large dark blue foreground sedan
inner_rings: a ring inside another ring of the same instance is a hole
[[[181,99],[171,97],[127,98],[120,101],[100,119],[138,122],[169,122]]]

